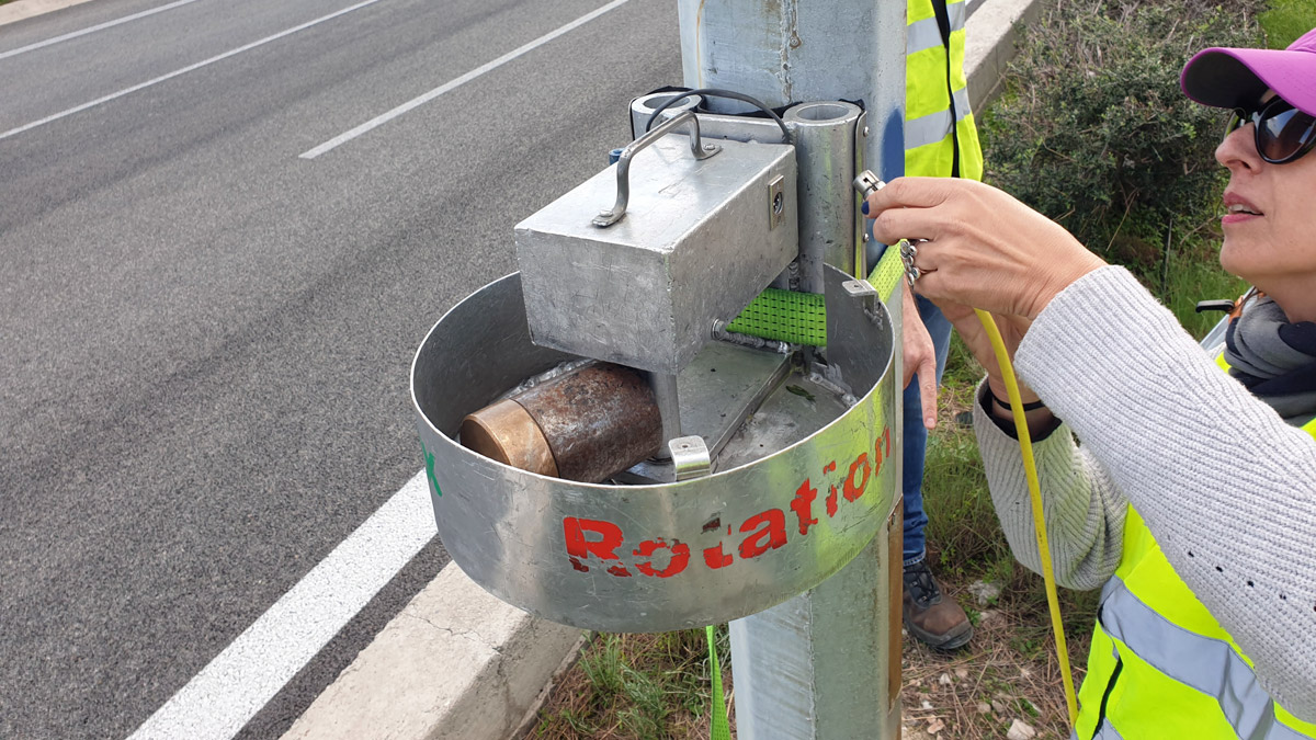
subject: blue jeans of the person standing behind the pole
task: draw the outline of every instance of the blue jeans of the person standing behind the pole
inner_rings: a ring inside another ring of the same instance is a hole
[[[916,295],[919,316],[923,317],[932,345],[937,350],[937,387],[946,371],[946,353],[950,352],[950,321],[930,300]],[[904,564],[913,565],[926,554],[923,535],[928,515],[923,511],[923,463],[928,453],[928,429],[923,425],[923,403],[919,399],[919,377],[915,375],[904,391]]]

